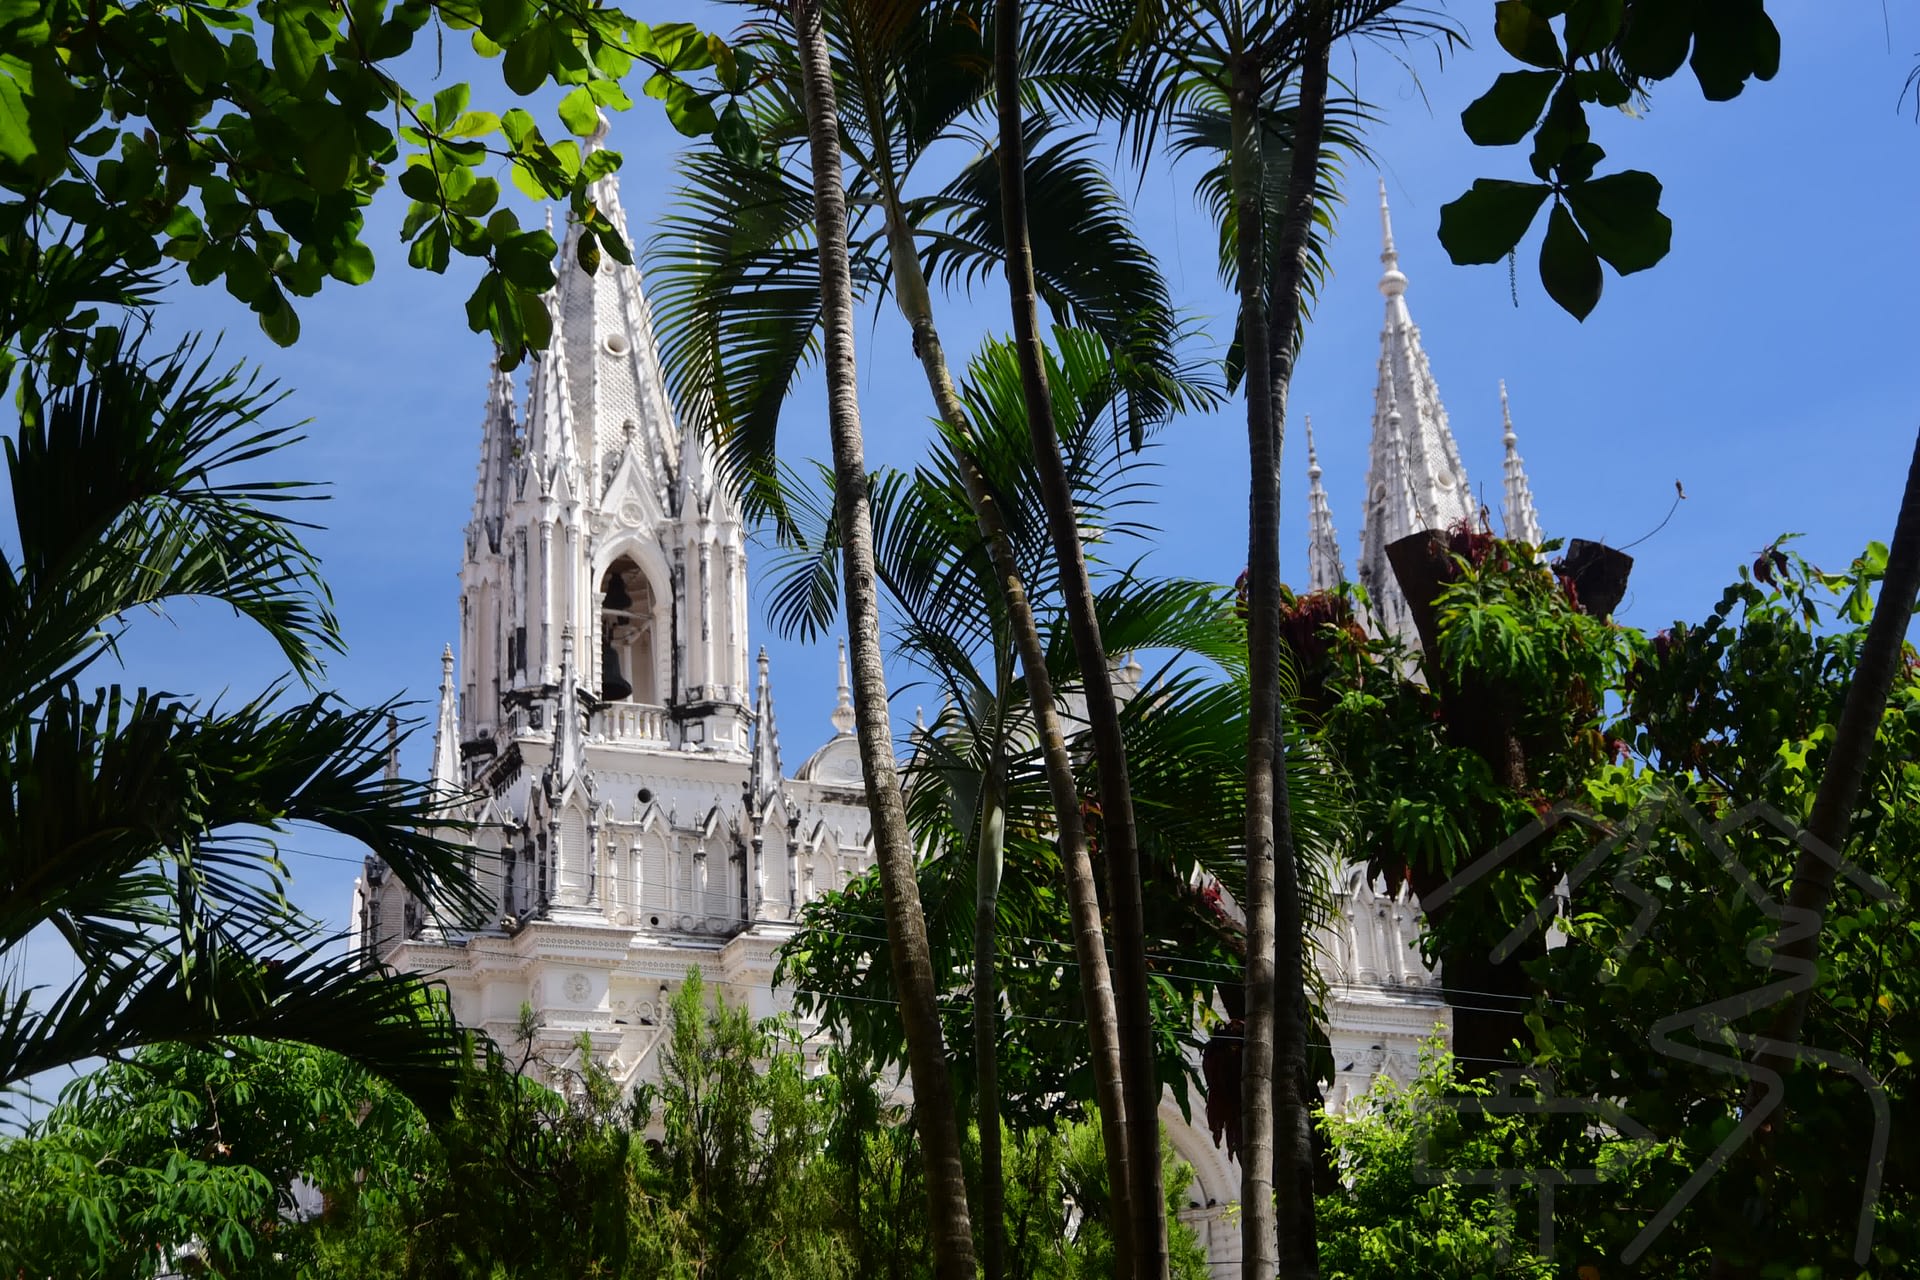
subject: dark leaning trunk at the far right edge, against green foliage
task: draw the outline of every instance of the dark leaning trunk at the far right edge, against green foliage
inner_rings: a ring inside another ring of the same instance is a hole
[[[1814,919],[1812,929],[1780,946],[1774,954],[1774,967],[1801,967],[1812,973],[1820,952],[1822,912],[1834,896],[1834,877],[1839,867],[1814,848],[1841,850],[1847,842],[1847,827],[1853,821],[1853,806],[1866,783],[1866,762],[1880,733],[1880,720],[1887,710],[1887,695],[1901,670],[1901,649],[1907,643],[1907,628],[1912,624],[1914,601],[1920,599],[1920,436],[1914,438],[1914,457],[1907,468],[1907,491],[1901,495],[1901,512],[1893,526],[1893,541],[1887,545],[1887,572],[1880,580],[1880,601],[1874,604],[1874,618],[1866,624],[1866,641],[1860,645],[1859,664],[1853,668],[1853,683],[1847,685],[1847,700],[1839,710],[1839,725],[1834,729],[1834,754],[1826,760],[1826,773],[1820,775],[1820,789],[1812,798],[1812,814],[1807,818],[1807,835],[1818,844],[1801,848],[1793,864],[1793,892],[1788,896],[1788,917]],[[1795,1046],[1807,1023],[1807,1006],[1812,1002],[1812,988],[1795,992],[1782,1006],[1761,1040],[1755,1054],[1755,1067],[1772,1075],[1793,1069]],[[1755,1080],[1747,1088],[1743,1111],[1753,1115],[1766,1102],[1766,1086]],[[1743,1153],[1749,1171],[1772,1167],[1764,1151],[1772,1136],[1786,1125],[1786,1115],[1768,1117],[1755,1140]],[[1763,1184],[1770,1178],[1763,1178]],[[1766,1197],[1759,1201],[1759,1215],[1766,1213]],[[1761,1238],[1763,1222],[1753,1222],[1751,1238]],[[1747,1267],[1724,1257],[1715,1257],[1713,1274],[1745,1276]]]

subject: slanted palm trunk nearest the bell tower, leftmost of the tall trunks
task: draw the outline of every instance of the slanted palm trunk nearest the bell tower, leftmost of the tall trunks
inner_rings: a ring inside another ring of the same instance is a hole
[[[887,948],[900,992],[906,1029],[906,1067],[914,1086],[914,1119],[927,1171],[927,1219],[933,1236],[933,1274],[941,1280],[973,1276],[973,1226],[960,1163],[952,1082],[941,1044],[927,921],[914,879],[914,844],[893,758],[887,716],[887,674],[879,651],[879,597],[874,570],[874,522],[868,505],[866,459],[854,374],[852,276],[847,263],[847,190],[841,182],[839,113],[820,0],[793,0],[812,157],[814,221],[820,234],[820,299],[826,320],[824,368],[833,436],[833,505],[839,520],[847,639],[852,662],[854,718],[866,804],[874,818],[874,848],[887,913]]]

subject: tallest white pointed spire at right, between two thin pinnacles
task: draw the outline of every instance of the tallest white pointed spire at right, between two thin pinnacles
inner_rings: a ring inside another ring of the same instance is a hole
[[[1421,530],[1473,520],[1467,468],[1440,405],[1421,330],[1407,311],[1407,276],[1400,271],[1394,223],[1380,182],[1380,370],[1373,391],[1373,443],[1367,457],[1367,507],[1359,533],[1359,580],[1382,626],[1411,637],[1411,614],[1386,562],[1386,547]]]

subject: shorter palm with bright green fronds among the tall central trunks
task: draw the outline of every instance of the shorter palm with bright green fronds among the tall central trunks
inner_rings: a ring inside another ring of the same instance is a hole
[[[1058,353],[1046,353],[1052,397],[1060,405],[1060,451],[1068,459],[1073,507],[1081,518],[1104,530],[1108,541],[1125,535],[1123,518],[1139,486],[1131,459],[1106,447],[1106,415],[1116,395],[1116,378],[1104,345],[1091,334],[1058,330]],[[1052,551],[1046,535],[1044,503],[1025,428],[1025,399],[1018,359],[1008,344],[991,344],[970,367],[964,390],[977,434],[970,441],[972,468],[995,505],[1008,512],[1008,543],[1021,572],[1039,583],[1056,583],[1048,574]],[[927,902],[935,973],[956,986],[972,986],[975,1094],[983,1125],[983,1192],[993,1194],[995,1167],[991,1130],[996,1128],[993,1044],[998,1038],[1000,992],[993,983],[995,913],[1027,921],[1012,929],[1014,940],[998,944],[1000,967],[1010,977],[1006,1000],[1025,1009],[1020,1017],[1046,1017],[1048,1004],[1033,1006],[1035,992],[1052,1000],[1066,984],[1077,984],[1077,961],[1056,952],[1021,954],[1025,938],[1046,938],[1060,929],[1044,906],[1044,887],[1052,879],[1050,808],[1044,796],[1044,768],[1033,725],[1031,704],[1010,670],[1008,620],[996,591],[995,568],[985,535],[972,520],[973,499],[968,476],[952,455],[922,466],[912,476],[876,476],[877,572],[895,618],[895,649],[922,668],[945,702],[941,716],[914,733],[908,768],[908,816],[916,842],[924,850],[922,896]],[[789,482],[797,537],[772,568],[770,612],[789,635],[812,637],[831,626],[835,612],[835,541],[826,510],[806,499],[806,487]],[[1064,635],[1058,587],[1035,595],[1046,628],[1046,666],[1050,683],[1079,687],[1075,649]],[[1142,848],[1152,867],[1162,910],[1154,915],[1154,948],[1164,956],[1187,956],[1196,942],[1213,942],[1217,917],[1194,885],[1238,881],[1223,858],[1236,852],[1240,796],[1233,785],[1233,764],[1244,739],[1244,629],[1231,614],[1217,587],[1198,583],[1140,580],[1133,574],[1110,580],[1096,601],[1102,629],[1127,649],[1173,651],[1204,656],[1229,672],[1231,681],[1198,679],[1177,672],[1144,681],[1144,689],[1123,708],[1129,750],[1139,750],[1148,793],[1139,800]],[[1085,750],[1085,745],[1077,745]],[[1325,771],[1319,773],[1325,791]],[[1325,816],[1315,814],[1325,831]],[[996,896],[996,871],[1004,862],[1006,896]],[[973,892],[968,894],[968,885]],[[966,925],[958,919],[972,896],[972,983],[960,960]],[[989,906],[991,904],[991,906]],[[783,961],[789,981],[803,988],[803,1004],[826,1013],[829,1023],[858,1029],[864,1048],[887,1054],[889,1029],[872,1019],[876,984],[885,983],[883,965],[860,938],[858,894],[845,904],[822,906],[812,927]],[[1171,933],[1167,933],[1171,929]],[[1068,971],[1062,973],[1062,965]],[[1196,958],[1162,965],[1162,981],[1177,984],[1188,998],[1162,1011],[1158,1040],[1190,1034],[1196,1009],[1208,1007],[1213,983],[1200,981],[1208,967]],[[858,990],[851,983],[858,975]],[[1083,977],[1083,975],[1081,975]],[[833,996],[814,992],[845,990],[856,996],[841,1006]],[[1027,1032],[1031,1034],[1031,1032]],[[1029,1050],[1021,1061],[1031,1061]],[[1179,1077],[1185,1065],[1175,1055],[1156,1052],[1156,1075]],[[1031,1071],[1031,1067],[1023,1067]],[[1071,1079],[1073,1061],[1052,1061],[1046,1080]],[[1016,1094],[1031,1094],[1020,1080]],[[1031,1123],[1031,1109],[1021,1109]],[[1156,1130],[1158,1144],[1158,1130]],[[985,1203],[985,1199],[983,1199]],[[1116,1215],[1116,1228],[1125,1226]],[[993,1245],[991,1217],[983,1221],[987,1249]]]

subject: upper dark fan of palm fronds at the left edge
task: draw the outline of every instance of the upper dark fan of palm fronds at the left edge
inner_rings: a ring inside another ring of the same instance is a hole
[[[280,647],[301,677],[340,647],[305,528],[276,505],[311,486],[238,478],[294,439],[261,426],[278,403],[194,345],[156,361],[140,340],[71,386],[21,386],[6,441],[17,562],[0,553],[0,702],[38,706],[104,654],[117,620],[200,597],[228,604]]]

